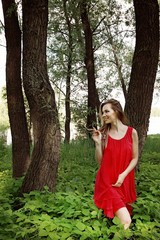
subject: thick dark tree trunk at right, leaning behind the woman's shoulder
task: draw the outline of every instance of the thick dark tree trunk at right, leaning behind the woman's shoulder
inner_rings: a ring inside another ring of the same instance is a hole
[[[134,0],[136,47],[125,112],[138,131],[139,154],[147,136],[159,55],[159,7],[157,0]]]

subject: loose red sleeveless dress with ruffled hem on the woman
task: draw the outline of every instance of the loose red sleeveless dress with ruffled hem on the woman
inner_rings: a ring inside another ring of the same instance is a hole
[[[125,136],[119,140],[108,136],[101,166],[97,172],[94,203],[104,211],[104,215],[113,218],[115,212],[127,207],[131,214],[131,203],[136,200],[134,169],[126,176],[121,187],[113,187],[132,160],[132,127],[128,127]]]

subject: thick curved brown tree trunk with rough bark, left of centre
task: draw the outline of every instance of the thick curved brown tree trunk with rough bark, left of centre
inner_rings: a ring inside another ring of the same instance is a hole
[[[21,192],[55,189],[60,126],[54,91],[47,74],[47,0],[23,0],[23,81],[33,123],[32,161]]]

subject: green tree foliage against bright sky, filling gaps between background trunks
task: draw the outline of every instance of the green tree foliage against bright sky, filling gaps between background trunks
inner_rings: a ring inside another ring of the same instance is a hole
[[[66,2],[66,9],[64,9],[63,2]],[[72,121],[77,123],[76,118],[82,122],[86,121],[88,111],[88,86],[84,67],[85,39],[80,16],[81,3],[80,0],[49,1],[48,72],[58,96],[62,126],[64,126],[62,106],[64,106],[66,95],[69,61],[71,63]],[[101,101],[110,97],[113,89],[121,89],[121,75],[126,86],[128,85],[135,38],[133,4],[129,5],[117,0],[92,0],[86,3],[93,33],[96,86]],[[66,21],[66,13],[69,22]],[[70,56],[69,53],[71,53]]]

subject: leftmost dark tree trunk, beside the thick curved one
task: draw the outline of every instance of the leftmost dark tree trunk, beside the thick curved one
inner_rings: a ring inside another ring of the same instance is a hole
[[[21,31],[14,0],[2,0],[7,44],[6,89],[12,134],[13,177],[25,174],[30,163],[29,134],[21,86]]]

